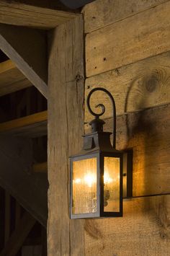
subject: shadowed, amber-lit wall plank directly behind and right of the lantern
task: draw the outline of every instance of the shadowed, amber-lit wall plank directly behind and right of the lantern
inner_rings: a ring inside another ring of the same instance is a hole
[[[133,196],[170,193],[170,105],[117,117],[117,149],[133,149]],[[112,132],[112,118],[104,120]]]

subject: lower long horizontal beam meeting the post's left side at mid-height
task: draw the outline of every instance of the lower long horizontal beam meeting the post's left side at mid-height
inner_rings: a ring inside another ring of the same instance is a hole
[[[0,134],[27,136],[30,138],[47,134],[48,112],[38,112],[24,118],[0,123]]]

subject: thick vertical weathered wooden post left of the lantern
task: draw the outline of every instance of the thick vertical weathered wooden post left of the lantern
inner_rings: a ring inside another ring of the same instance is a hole
[[[84,221],[69,219],[68,156],[84,133],[84,24],[81,16],[49,32],[48,256],[84,255]]]

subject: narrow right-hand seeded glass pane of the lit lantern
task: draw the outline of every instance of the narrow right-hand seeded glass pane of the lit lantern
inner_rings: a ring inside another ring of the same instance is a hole
[[[104,211],[120,211],[120,158],[104,157]]]

